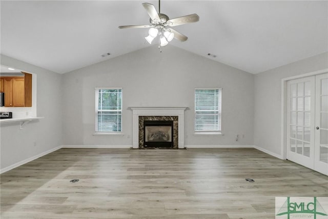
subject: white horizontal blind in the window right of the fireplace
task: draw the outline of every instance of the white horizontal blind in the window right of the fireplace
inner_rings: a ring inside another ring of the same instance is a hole
[[[221,88],[195,89],[195,131],[221,131]]]

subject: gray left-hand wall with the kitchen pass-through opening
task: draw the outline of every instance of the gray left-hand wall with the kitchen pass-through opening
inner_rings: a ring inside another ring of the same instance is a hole
[[[19,123],[1,125],[1,169],[29,159],[62,144],[61,75],[1,55],[1,64],[37,75],[37,116],[19,130]]]

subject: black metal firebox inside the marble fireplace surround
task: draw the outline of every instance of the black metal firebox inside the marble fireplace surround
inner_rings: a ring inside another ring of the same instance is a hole
[[[173,147],[173,121],[144,121],[144,147]]]

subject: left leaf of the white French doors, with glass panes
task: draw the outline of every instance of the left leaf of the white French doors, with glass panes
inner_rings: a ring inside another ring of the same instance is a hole
[[[288,81],[287,159],[314,168],[315,78]]]

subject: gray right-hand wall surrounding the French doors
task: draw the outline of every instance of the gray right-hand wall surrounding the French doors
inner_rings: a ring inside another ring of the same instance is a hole
[[[328,53],[255,75],[254,144],[282,155],[281,79],[328,68]]]

